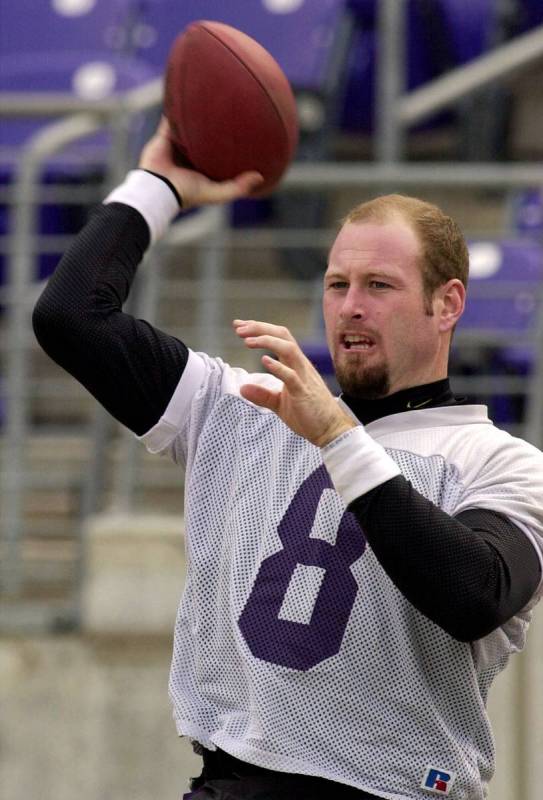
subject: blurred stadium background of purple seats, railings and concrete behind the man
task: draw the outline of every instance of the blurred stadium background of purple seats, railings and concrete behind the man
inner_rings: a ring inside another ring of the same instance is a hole
[[[541,0],[0,0],[0,795],[174,800],[199,771],[167,698],[183,476],[34,340],[30,313],[157,124],[175,35],[216,19],[295,90],[271,198],[180,217],[130,310],[250,369],[236,316],[288,325],[334,388],[320,283],[338,220],[400,191],[470,242],[453,388],[543,444]],[[490,698],[490,800],[541,797],[543,613]]]

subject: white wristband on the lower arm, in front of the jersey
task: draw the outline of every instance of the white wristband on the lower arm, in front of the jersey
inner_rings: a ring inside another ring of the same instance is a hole
[[[342,433],[323,447],[321,454],[336,491],[347,505],[401,475],[396,462],[362,425]]]

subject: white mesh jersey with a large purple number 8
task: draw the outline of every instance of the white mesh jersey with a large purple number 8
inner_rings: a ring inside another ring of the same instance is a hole
[[[275,379],[191,352],[141,437],[186,467],[170,676],[179,733],[389,800],[485,797],[487,692],[523,647],[540,591],[486,638],[453,639],[395,588],[321,451],[240,396],[254,382]],[[483,406],[394,414],[366,430],[444,511],[500,511],[541,556],[542,455]]]

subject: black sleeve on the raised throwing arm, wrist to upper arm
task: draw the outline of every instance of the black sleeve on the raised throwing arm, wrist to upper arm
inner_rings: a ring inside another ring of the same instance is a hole
[[[43,349],[138,434],[160,418],[186,347],[122,311],[150,241],[127,205],[101,206],[67,250],[33,315]]]

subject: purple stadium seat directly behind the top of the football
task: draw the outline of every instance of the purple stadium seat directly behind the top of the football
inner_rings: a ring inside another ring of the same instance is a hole
[[[133,46],[141,58],[162,66],[190,22],[217,20],[260,42],[295,87],[319,89],[344,5],[345,0],[146,0]]]

